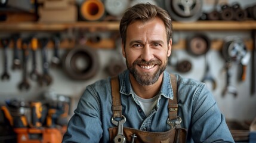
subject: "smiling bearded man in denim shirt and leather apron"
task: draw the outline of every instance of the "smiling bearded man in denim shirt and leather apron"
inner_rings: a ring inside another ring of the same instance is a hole
[[[172,45],[165,10],[129,8],[120,33],[128,70],[116,85],[109,77],[87,86],[63,142],[234,142],[205,84],[165,71]]]

